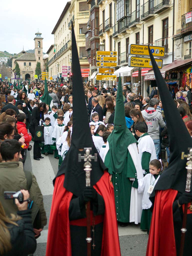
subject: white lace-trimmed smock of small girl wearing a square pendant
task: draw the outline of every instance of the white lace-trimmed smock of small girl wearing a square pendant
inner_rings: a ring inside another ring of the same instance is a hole
[[[153,184],[155,187],[157,180],[159,179],[160,175],[155,180],[154,176],[151,173],[148,173],[145,175],[144,178],[138,179],[138,193],[142,193],[142,209],[149,209],[152,206],[152,202],[150,201],[149,197],[151,194],[149,194],[147,191],[149,189],[149,186]],[[151,184],[150,184],[151,183]]]

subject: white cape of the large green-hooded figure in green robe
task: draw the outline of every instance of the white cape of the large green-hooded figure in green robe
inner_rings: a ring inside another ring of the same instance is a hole
[[[135,169],[137,171],[137,179],[142,179],[143,172],[142,172],[141,161],[140,161],[138,150],[137,150],[137,144],[136,143],[130,144],[128,146],[128,150],[133,160]],[[105,157],[108,151],[109,151],[109,143],[107,142],[103,162],[105,161]],[[141,222],[141,214],[142,214],[142,195],[138,193],[137,188],[132,187],[129,222],[135,222],[135,224],[138,224],[139,222]]]

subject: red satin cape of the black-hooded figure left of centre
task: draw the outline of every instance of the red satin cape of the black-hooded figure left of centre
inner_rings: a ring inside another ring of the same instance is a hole
[[[69,204],[73,194],[63,187],[64,178],[63,174],[55,181],[46,256],[71,256]],[[107,171],[93,187],[105,201],[101,256],[120,256],[114,188]]]

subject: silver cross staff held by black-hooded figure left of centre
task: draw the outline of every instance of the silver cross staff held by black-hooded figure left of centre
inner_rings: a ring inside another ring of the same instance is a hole
[[[90,151],[92,150],[91,147],[85,147],[84,151],[85,154],[84,156],[82,156],[81,154],[78,154],[78,162],[81,162],[82,159],[84,159],[84,171],[85,171],[85,181],[86,181],[86,187],[91,186],[91,159],[94,159],[94,161],[97,161],[97,154],[94,154],[94,156],[92,156],[90,154]],[[87,256],[91,256],[91,225],[90,225],[90,201],[87,202]]]

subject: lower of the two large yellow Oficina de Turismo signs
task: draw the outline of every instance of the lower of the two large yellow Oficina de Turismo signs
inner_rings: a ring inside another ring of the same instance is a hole
[[[155,59],[158,68],[162,68],[163,60]],[[138,68],[153,68],[150,58],[142,58],[142,57],[129,57],[128,58],[128,66],[129,67],[138,67]]]

